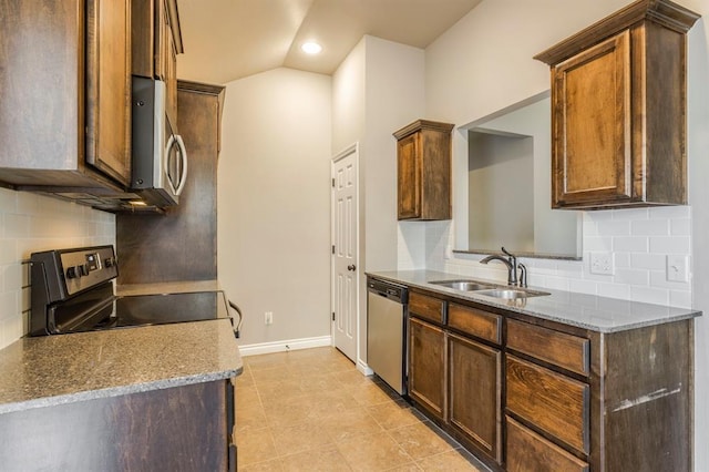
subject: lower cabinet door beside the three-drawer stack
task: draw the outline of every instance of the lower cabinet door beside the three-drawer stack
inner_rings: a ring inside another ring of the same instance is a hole
[[[496,462],[502,462],[501,352],[449,335],[449,421]]]

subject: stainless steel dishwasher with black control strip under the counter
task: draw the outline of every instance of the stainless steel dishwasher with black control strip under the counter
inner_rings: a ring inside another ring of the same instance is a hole
[[[408,288],[367,279],[367,363],[399,394],[407,393]]]

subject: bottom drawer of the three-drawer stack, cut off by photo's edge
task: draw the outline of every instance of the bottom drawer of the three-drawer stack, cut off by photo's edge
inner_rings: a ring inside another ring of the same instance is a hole
[[[505,417],[507,427],[507,470],[521,471],[588,471],[588,464],[524,428],[510,417]]]

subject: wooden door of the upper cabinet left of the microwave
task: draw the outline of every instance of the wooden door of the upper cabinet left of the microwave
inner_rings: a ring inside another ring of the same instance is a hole
[[[131,7],[86,2],[88,164],[123,185],[131,179]]]

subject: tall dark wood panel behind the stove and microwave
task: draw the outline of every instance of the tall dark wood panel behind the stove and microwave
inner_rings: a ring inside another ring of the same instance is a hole
[[[179,205],[116,216],[119,284],[217,278],[217,160],[225,89],[179,82],[179,129],[189,172]],[[188,248],[188,249],[186,249]]]

